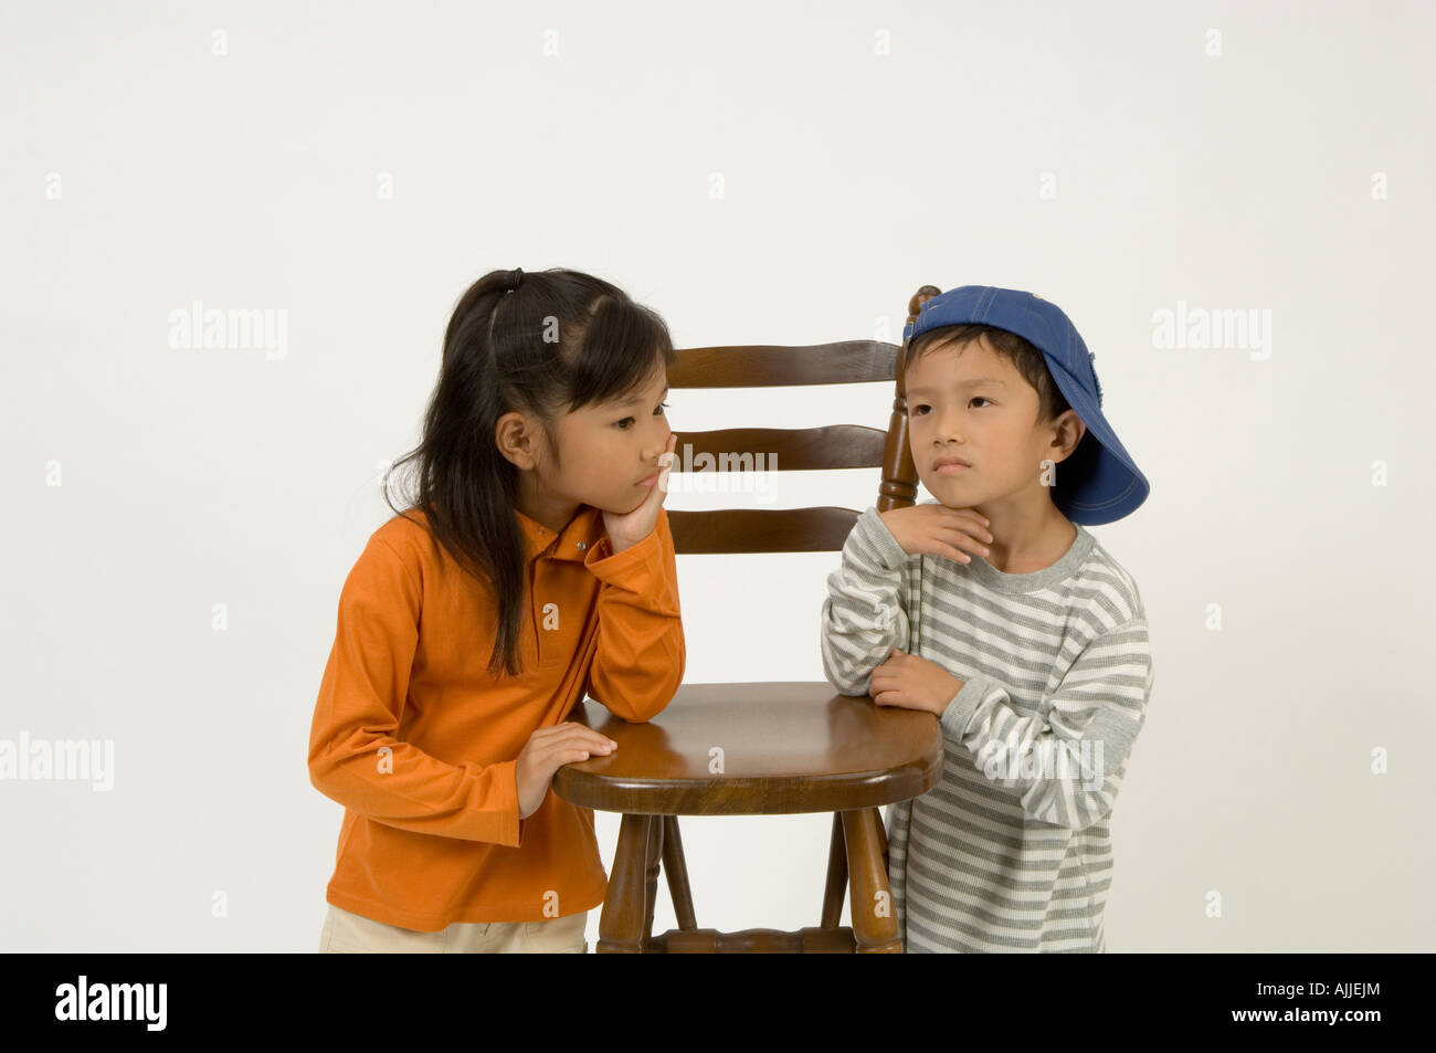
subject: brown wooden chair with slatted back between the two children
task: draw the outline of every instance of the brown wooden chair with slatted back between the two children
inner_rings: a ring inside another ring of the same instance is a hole
[[[938,294],[923,286],[908,303],[908,320]],[[764,388],[892,381],[887,431],[836,424],[820,428],[731,428],[685,432],[681,448],[711,454],[719,470],[737,468],[734,451],[768,451],[778,470],[880,468],[879,511],[916,500],[908,447],[908,402],[898,368],[902,348],[877,340],[817,346],[681,349],[668,372],[671,388]],[[727,455],[727,457],[724,457]],[[840,552],[859,511],[840,507],[669,511],[679,555]],[[821,598],[814,598],[814,616]],[[559,769],[553,789],[576,804],[622,812],[599,952],[902,951],[896,918],[859,904],[882,902],[887,845],[880,804],[925,793],[942,776],[942,734],[931,714],[880,708],[841,695],[827,682],[685,684],[646,724],[628,724],[586,701],[573,720],[615,738],[610,757]],[[708,744],[727,743],[735,770],[714,774]],[[823,912],[816,928],[797,932],[718,932],[696,927],[678,830],[679,815],[833,815]],[[678,929],[652,935],[659,869]],[[852,888],[853,925],[839,927],[844,886]]]

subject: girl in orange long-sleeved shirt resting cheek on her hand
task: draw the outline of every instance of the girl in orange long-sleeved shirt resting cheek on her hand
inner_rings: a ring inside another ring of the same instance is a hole
[[[663,320],[589,274],[460,299],[409,506],[345,580],[309,741],[345,806],[322,951],[586,951],[607,876],[554,771],[684,675]],[[388,488],[386,488],[388,500]]]

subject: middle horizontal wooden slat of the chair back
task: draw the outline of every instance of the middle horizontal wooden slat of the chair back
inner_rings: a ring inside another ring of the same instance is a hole
[[[684,431],[675,471],[823,471],[880,468],[887,432],[860,424],[821,428]]]

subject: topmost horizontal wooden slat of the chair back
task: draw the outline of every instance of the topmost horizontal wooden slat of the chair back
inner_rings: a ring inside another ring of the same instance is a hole
[[[843,340],[806,346],[679,348],[669,388],[781,388],[898,379],[898,345]]]

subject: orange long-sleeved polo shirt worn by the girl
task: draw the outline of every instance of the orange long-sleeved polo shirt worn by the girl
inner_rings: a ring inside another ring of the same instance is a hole
[[[668,511],[617,555],[597,509],[559,534],[517,513],[518,677],[485,668],[488,588],[408,514],[425,526],[395,516],[349,572],[314,705],[309,777],[345,806],[326,899],[424,932],[592,909],[607,891],[593,810],[549,790],[520,819],[516,766],[586,694],[629,721],[672,701],[685,649]]]

